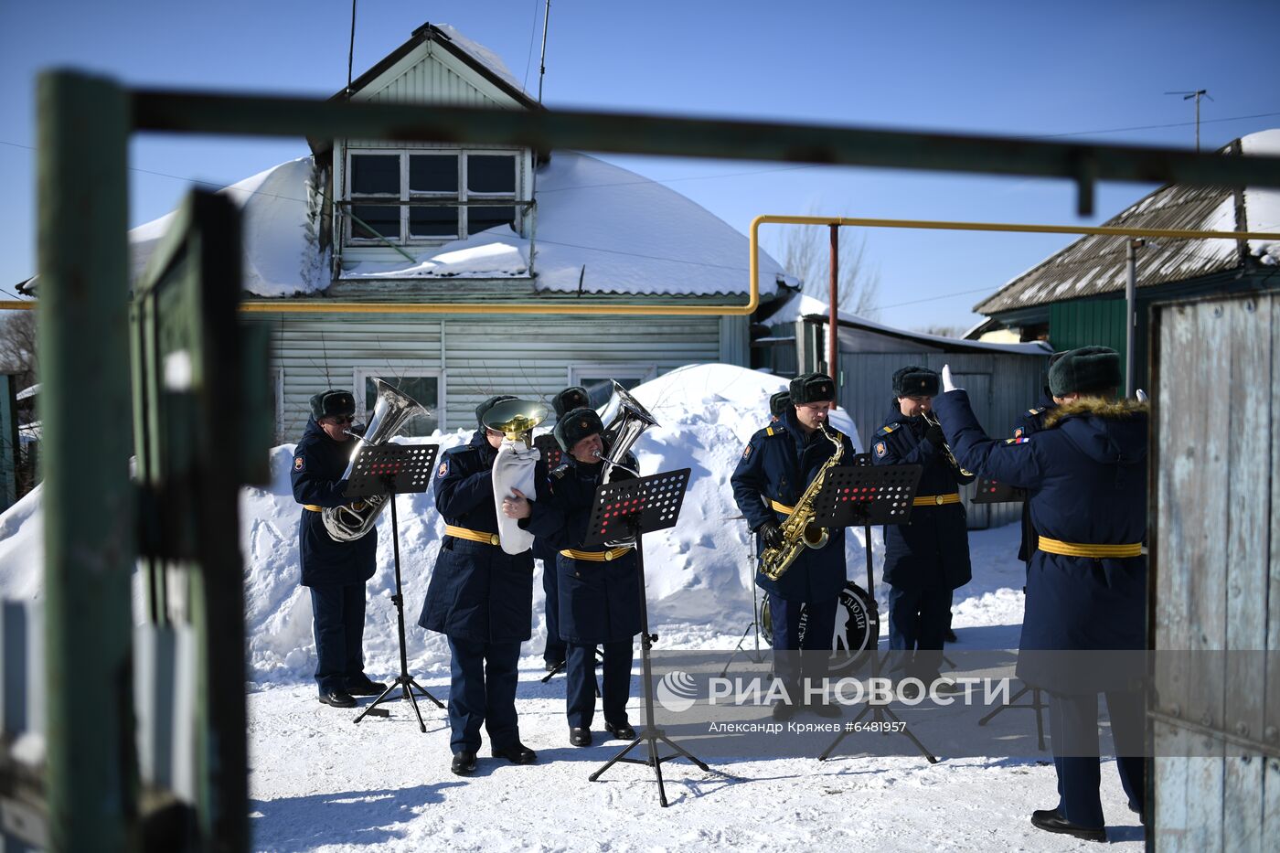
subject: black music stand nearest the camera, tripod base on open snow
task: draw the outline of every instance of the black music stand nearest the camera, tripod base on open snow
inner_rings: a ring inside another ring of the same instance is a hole
[[[689,758],[705,771],[710,771],[703,761],[691,752],[668,738],[662,729],[653,725],[653,669],[649,662],[649,651],[658,640],[657,634],[649,633],[649,602],[645,599],[644,579],[644,543],[641,535],[653,530],[664,530],[676,525],[680,517],[680,506],[685,498],[685,487],[689,485],[691,469],[682,467],[677,471],[663,471],[652,476],[641,476],[621,483],[609,483],[595,491],[595,505],[591,508],[591,520],[588,523],[586,539],[584,546],[609,547],[609,542],[631,538],[635,540],[636,570],[640,573],[640,660],[644,669],[644,729],[635,740],[622,748],[618,754],[588,779],[595,781],[605,770],[620,761],[631,765],[646,765],[653,767],[658,776],[658,802],[663,808],[667,806],[667,789],[662,783],[662,762],[673,758]],[[627,753],[635,749],[644,740],[649,745],[648,758],[628,758]],[[662,742],[676,751],[673,756],[658,756],[658,742]]]

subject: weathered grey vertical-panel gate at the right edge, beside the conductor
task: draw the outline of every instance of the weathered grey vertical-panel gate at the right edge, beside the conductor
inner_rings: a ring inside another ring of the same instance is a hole
[[[1160,850],[1266,850],[1280,838],[1280,297],[1152,311],[1149,634],[1226,656],[1157,667],[1148,708]],[[1251,394],[1242,398],[1239,389]],[[1203,757],[1208,754],[1208,757]],[[1270,839],[1270,840],[1267,840]]]

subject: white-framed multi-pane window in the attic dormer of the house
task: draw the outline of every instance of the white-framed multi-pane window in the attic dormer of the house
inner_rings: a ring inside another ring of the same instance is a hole
[[[479,201],[493,201],[493,206],[500,207],[507,206],[507,201],[511,202],[509,206],[516,209],[515,224],[516,232],[524,229],[524,209],[516,204],[521,200],[524,186],[524,151],[518,149],[366,149],[366,147],[348,147],[346,149],[346,164],[347,169],[347,197],[343,200],[347,202],[347,213],[351,209],[360,205],[381,206],[381,207],[399,207],[399,237],[356,237],[355,228],[356,220],[346,215],[343,216],[343,245],[353,248],[358,247],[376,247],[385,246],[387,242],[392,242],[397,246],[440,246],[444,243],[453,242],[456,240],[465,240],[471,236],[471,216],[468,215],[470,209],[467,205],[458,205],[456,210],[458,211],[458,229],[453,236],[440,234],[433,237],[412,237],[408,232],[410,220],[408,211],[412,209],[410,205],[404,204],[413,199],[457,199],[458,201],[479,200]],[[392,196],[375,196],[375,195],[356,195],[352,188],[352,160],[361,155],[381,155],[381,156],[397,156],[399,158],[399,195],[397,197]],[[444,155],[453,156],[457,160],[458,167],[458,191],[457,193],[447,192],[413,192],[410,190],[410,158],[415,155]],[[512,168],[515,169],[515,187],[511,195],[507,193],[494,193],[494,192],[471,192],[467,188],[467,160],[470,156],[508,156],[512,159]]]

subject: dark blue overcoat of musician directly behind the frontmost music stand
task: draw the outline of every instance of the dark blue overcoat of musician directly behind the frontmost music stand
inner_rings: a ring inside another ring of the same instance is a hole
[[[623,464],[635,467],[635,457],[628,453]],[[529,530],[539,539],[545,537],[557,549],[604,551],[603,546],[582,544],[603,467],[599,462],[579,462],[566,453],[564,462],[550,474],[547,497],[535,502]],[[607,561],[557,553],[556,573],[561,639],[580,644],[617,643],[640,633],[640,571],[635,551]]]

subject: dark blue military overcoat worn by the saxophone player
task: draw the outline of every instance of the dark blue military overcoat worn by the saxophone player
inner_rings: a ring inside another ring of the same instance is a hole
[[[827,430],[844,446],[841,465],[852,465],[854,444],[849,437],[828,424]],[[765,521],[782,524],[787,514],[776,505],[792,507],[818,474],[818,469],[836,452],[836,446],[822,433],[805,434],[794,407],[776,423],[751,435],[730,482],[733,500],[746,516],[751,530]],[[756,553],[762,549],[756,542]],[[805,548],[777,580],[755,574],[755,585],[786,601],[824,601],[845,588],[845,530],[831,530],[822,548]]]

